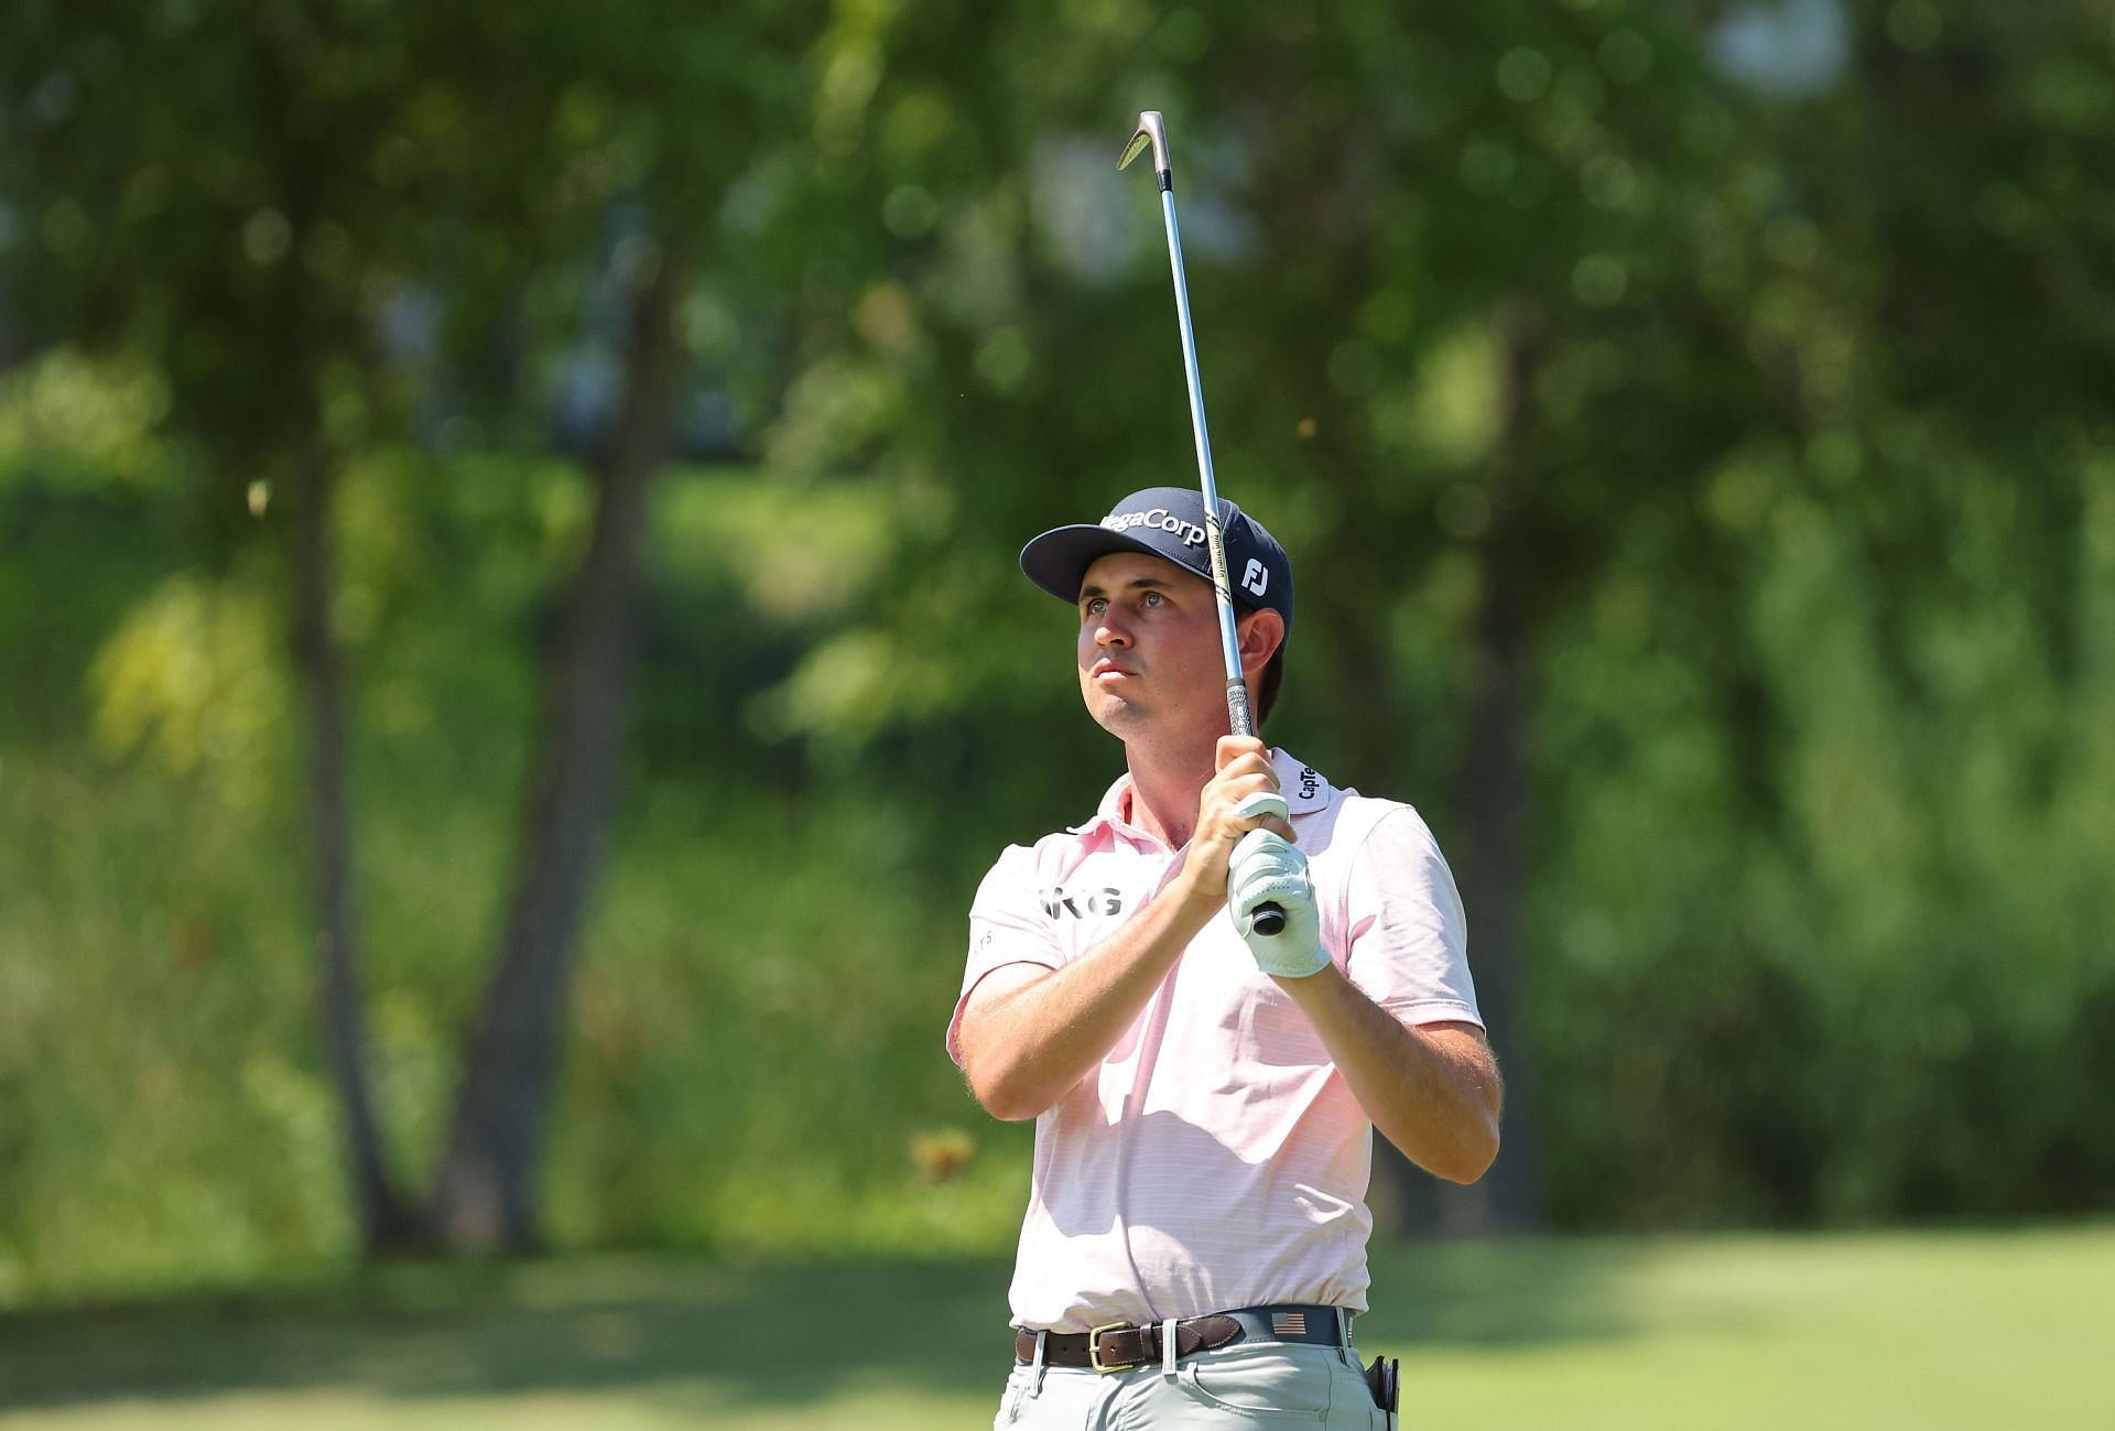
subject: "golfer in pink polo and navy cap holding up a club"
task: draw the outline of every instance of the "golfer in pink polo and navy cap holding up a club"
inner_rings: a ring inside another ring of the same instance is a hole
[[[1292,566],[1231,501],[1220,522],[1261,723]],[[1074,602],[1127,772],[971,909],[948,1053],[992,1116],[1036,1120],[994,1427],[1390,1427],[1351,1344],[1371,1129],[1451,1182],[1497,1154],[1453,875],[1409,805],[1227,733],[1195,488],[1047,531],[1022,569]]]

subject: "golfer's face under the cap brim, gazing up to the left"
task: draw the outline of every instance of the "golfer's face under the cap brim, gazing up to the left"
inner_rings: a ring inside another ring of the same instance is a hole
[[[1112,552],[1079,588],[1079,689],[1110,736],[1148,723],[1225,729],[1227,670],[1212,583],[1161,556]]]

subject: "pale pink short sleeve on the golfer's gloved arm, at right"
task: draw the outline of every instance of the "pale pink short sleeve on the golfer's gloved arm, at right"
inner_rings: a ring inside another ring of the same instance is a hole
[[[1404,1023],[1474,1023],[1468,919],[1453,871],[1409,805],[1381,816],[1351,856],[1345,972]]]

